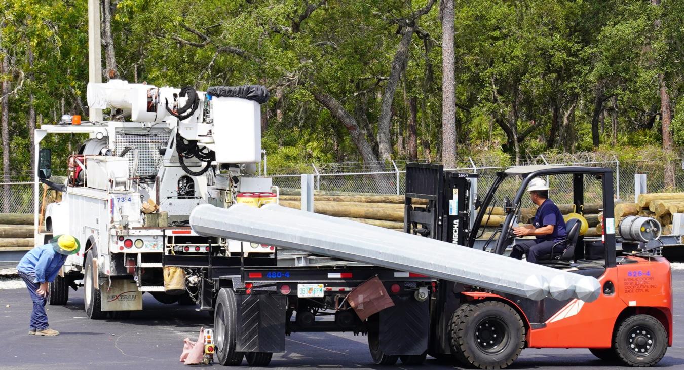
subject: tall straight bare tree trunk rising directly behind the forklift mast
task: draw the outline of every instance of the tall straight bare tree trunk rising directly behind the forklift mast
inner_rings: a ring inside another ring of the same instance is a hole
[[[442,0],[442,163],[456,167],[456,54],[454,0]]]

